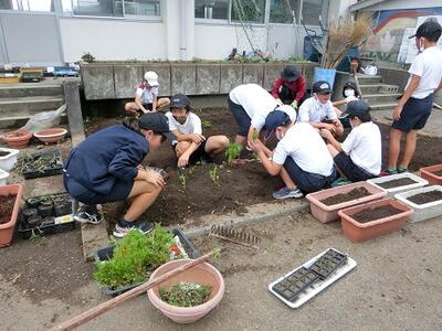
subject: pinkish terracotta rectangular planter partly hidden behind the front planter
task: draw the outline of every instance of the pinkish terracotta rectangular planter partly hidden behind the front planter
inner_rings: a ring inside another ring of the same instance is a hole
[[[343,203],[326,205],[320,202],[320,200],[327,199],[329,196],[334,196],[337,194],[346,194],[350,192],[352,189],[365,188],[370,195],[364,196],[360,199],[355,199],[350,201],[346,201]],[[350,207],[354,205],[358,205],[365,202],[369,202],[372,200],[378,200],[383,197],[387,194],[387,191],[383,189],[379,189],[367,182],[357,182],[344,186],[332,188],[328,190],[323,190],[319,192],[307,194],[307,200],[311,202],[311,211],[313,216],[322,223],[329,223],[337,221],[339,218],[338,211]]]

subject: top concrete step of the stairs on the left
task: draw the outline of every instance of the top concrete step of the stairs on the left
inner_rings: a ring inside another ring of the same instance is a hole
[[[21,84],[14,85],[0,85],[0,98],[18,98],[18,97],[33,97],[33,96],[59,96],[63,95],[62,85],[35,85],[35,84]]]

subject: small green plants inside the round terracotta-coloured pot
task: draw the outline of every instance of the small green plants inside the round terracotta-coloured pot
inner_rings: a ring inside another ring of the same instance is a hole
[[[159,288],[162,301],[178,307],[194,307],[210,299],[212,287],[198,282],[177,282]]]

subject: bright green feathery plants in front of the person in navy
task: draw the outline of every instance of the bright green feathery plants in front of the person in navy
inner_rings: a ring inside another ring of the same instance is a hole
[[[159,224],[146,236],[130,231],[116,243],[113,257],[105,263],[96,263],[98,269],[94,278],[103,286],[119,288],[145,281],[149,270],[169,260],[173,235]]]

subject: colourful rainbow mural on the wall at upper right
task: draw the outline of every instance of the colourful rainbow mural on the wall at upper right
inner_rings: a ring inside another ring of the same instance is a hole
[[[429,15],[442,15],[442,7],[378,12],[373,34],[362,53],[381,62],[410,63],[413,41],[407,38],[414,33],[418,20],[421,22],[421,17]]]

